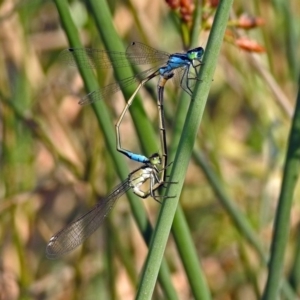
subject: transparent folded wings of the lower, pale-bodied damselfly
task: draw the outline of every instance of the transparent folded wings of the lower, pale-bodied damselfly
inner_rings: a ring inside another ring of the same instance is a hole
[[[129,179],[120,183],[109,196],[88,213],[55,234],[47,245],[46,256],[56,259],[81,245],[100,227],[116,200],[128,189],[130,189]]]

